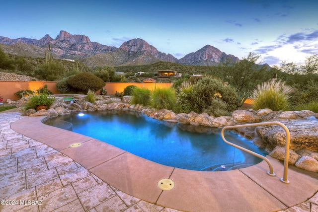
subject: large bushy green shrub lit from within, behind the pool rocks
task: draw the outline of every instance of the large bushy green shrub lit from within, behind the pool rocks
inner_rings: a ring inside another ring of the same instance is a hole
[[[230,85],[225,85],[219,79],[210,76],[203,77],[193,86],[191,95],[194,109],[201,113],[203,109],[212,106],[213,99],[219,99],[226,104],[224,110],[233,111],[241,105],[237,91]],[[213,108],[210,108],[212,110]]]

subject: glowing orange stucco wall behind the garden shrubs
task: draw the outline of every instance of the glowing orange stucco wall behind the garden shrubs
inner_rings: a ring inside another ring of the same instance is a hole
[[[52,81],[0,81],[0,96],[3,97],[3,102],[7,99],[13,101],[18,98],[14,95],[15,92],[19,90],[37,90],[44,87],[45,84],[48,85],[48,89],[54,94],[59,94],[56,89],[57,82]],[[104,88],[107,90],[107,95],[115,94],[116,91],[122,92],[128,85],[136,85],[138,87],[146,87],[150,90],[154,90],[156,87],[170,87],[172,83],[130,83],[130,82],[107,82]],[[96,92],[99,93],[98,91]]]

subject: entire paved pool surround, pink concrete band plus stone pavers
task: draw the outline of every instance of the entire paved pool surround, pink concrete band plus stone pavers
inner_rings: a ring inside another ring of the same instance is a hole
[[[265,161],[224,172],[179,169],[45,125],[43,118],[0,113],[0,198],[43,201],[0,205],[1,212],[318,211],[318,174],[290,165],[285,184],[282,162],[269,156],[275,177]],[[159,189],[164,178],[174,181],[172,190]]]

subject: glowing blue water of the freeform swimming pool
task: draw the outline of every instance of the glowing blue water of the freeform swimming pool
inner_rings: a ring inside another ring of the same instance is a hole
[[[71,123],[71,124],[70,124]],[[221,130],[159,121],[132,111],[91,111],[51,118],[45,124],[110,143],[163,165],[204,171],[226,170],[259,163],[261,159],[226,144]],[[261,155],[252,141],[226,132],[228,141]]]

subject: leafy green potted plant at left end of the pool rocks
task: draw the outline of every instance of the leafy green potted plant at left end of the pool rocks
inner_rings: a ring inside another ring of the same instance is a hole
[[[24,109],[30,108],[36,111],[41,109],[48,109],[50,105],[55,101],[54,97],[51,97],[48,93],[41,93],[39,95],[30,96],[24,105]]]

